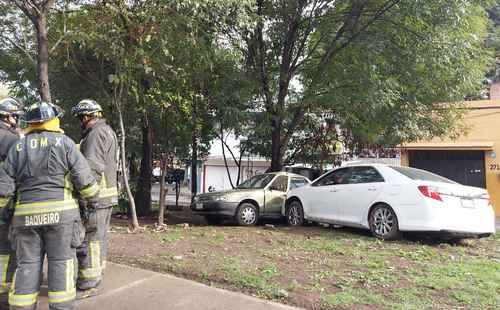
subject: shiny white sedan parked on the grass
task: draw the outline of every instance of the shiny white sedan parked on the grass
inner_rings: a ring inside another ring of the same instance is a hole
[[[485,189],[436,174],[381,164],[334,169],[289,192],[282,214],[290,225],[305,220],[370,229],[396,239],[401,231],[455,237],[495,233],[495,214]]]

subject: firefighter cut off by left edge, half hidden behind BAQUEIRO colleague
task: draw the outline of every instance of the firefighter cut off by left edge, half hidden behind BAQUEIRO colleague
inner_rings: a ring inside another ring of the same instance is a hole
[[[15,99],[5,98],[0,100],[0,163],[7,157],[10,147],[19,140],[16,131],[21,105]],[[9,201],[0,199],[0,213],[7,212]],[[0,221],[0,309],[7,309],[8,285],[16,268],[14,252],[11,249],[8,223]]]

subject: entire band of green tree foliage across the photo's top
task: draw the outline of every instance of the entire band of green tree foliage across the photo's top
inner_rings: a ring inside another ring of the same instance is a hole
[[[339,140],[356,149],[453,136],[462,128],[458,102],[484,95],[498,56],[496,1],[56,6],[48,21],[55,101],[69,110],[94,98],[116,128],[120,94],[130,152],[139,153],[147,120],[156,155],[183,159],[193,132],[202,155],[232,132],[252,153],[311,164],[335,160]],[[29,102],[37,96],[30,21],[5,2],[0,16],[0,80]],[[328,133],[318,126],[325,113],[335,128]],[[63,123],[77,138],[75,119]]]

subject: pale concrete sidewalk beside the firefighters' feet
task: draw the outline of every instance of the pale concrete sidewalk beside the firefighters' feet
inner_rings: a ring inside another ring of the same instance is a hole
[[[48,309],[46,290],[39,309]],[[240,293],[152,271],[109,263],[101,294],[75,310],[296,310]]]

